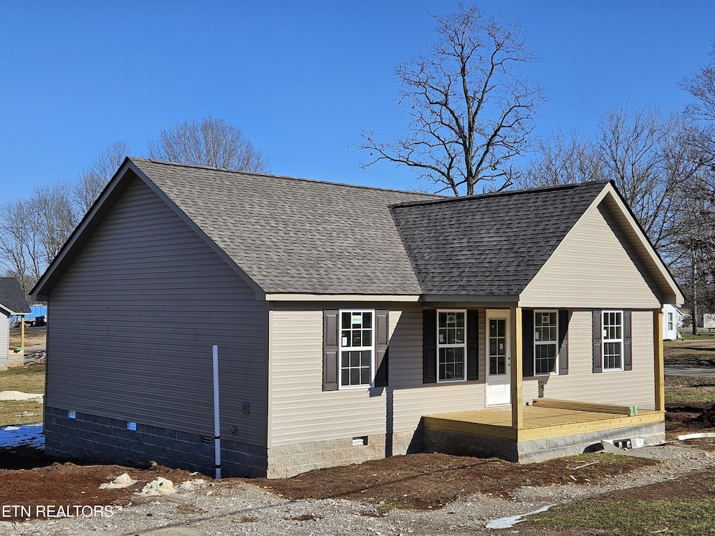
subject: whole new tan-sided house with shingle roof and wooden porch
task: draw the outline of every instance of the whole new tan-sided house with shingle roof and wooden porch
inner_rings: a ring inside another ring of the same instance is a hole
[[[662,441],[682,302],[610,182],[455,199],[145,159],[31,294],[46,452],[212,472],[216,344],[224,473],[270,477]]]

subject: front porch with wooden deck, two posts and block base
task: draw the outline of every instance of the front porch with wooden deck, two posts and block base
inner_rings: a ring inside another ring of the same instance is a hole
[[[524,400],[521,307],[511,308],[511,404],[423,416],[425,450],[536,462],[581,454],[600,441],[665,440],[663,328],[653,309],[654,410],[556,399]]]

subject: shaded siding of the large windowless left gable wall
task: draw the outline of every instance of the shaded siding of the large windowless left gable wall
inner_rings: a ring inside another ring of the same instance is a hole
[[[46,403],[265,445],[267,304],[135,180],[50,294]],[[250,413],[242,413],[242,402]]]

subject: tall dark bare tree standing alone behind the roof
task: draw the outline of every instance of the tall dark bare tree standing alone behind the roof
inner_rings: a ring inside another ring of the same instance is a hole
[[[413,168],[419,179],[460,195],[511,184],[511,159],[527,147],[541,86],[515,69],[536,61],[521,26],[460,4],[435,17],[437,41],[427,54],[395,69],[398,103],[411,116],[408,131],[391,142],[361,130],[352,147],[370,152],[361,167],[381,160]]]

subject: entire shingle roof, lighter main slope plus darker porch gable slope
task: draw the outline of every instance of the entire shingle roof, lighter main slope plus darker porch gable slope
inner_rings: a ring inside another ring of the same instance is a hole
[[[270,294],[519,294],[607,184],[445,199],[132,162]]]

